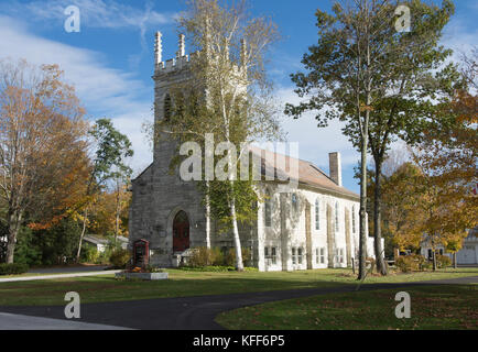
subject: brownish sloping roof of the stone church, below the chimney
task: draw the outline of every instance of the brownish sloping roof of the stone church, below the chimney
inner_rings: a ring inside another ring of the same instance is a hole
[[[291,157],[289,155],[279,154],[274,152],[270,152],[267,150],[262,150],[256,146],[251,147],[251,152],[256,155],[261,155],[261,173],[262,176],[265,176],[267,170],[272,174],[272,168],[274,168],[274,174],[276,175],[276,179],[294,179],[296,177],[294,170],[291,169],[291,162],[296,163],[298,168],[298,185],[311,187],[317,190],[327,190],[333,194],[338,194],[339,196],[351,197],[354,199],[359,199],[360,196],[356,193],[337,185],[326,173],[324,173],[321,168],[312,164],[311,162],[306,162],[300,158]],[[278,163],[278,160],[283,161],[282,163]],[[275,161],[274,164],[271,164],[271,161]],[[292,164],[292,165],[294,165]]]

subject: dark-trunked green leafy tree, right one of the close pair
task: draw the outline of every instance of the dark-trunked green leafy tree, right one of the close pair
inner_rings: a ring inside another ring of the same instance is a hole
[[[398,138],[409,144],[420,141],[439,106],[430,101],[446,100],[459,84],[459,75],[453,64],[442,68],[452,51],[438,45],[443,29],[454,13],[453,3],[444,1],[442,8],[422,1],[402,4],[406,4],[413,14],[413,26],[410,33],[391,35],[385,62],[392,68],[387,76],[376,77],[378,81],[382,78],[380,86],[388,85],[388,88],[373,95],[370,114],[369,141],[374,162],[373,232],[379,258],[382,257],[382,166],[390,144]],[[387,274],[381,260],[377,261],[377,266],[379,272]]]

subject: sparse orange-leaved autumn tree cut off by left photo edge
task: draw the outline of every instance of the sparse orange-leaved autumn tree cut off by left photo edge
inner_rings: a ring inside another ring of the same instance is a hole
[[[83,117],[58,66],[0,62],[0,197],[8,263],[13,263],[21,226],[51,226],[83,193],[89,167]]]

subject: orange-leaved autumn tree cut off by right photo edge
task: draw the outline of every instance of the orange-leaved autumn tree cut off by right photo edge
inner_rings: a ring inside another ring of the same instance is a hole
[[[458,89],[447,103],[439,106],[435,124],[424,133],[414,150],[416,165],[426,185],[425,230],[432,249],[435,239],[456,253],[467,230],[478,226],[477,184],[477,51],[465,61],[463,76],[468,89]],[[469,76],[468,76],[469,75]],[[434,261],[434,267],[436,263]]]

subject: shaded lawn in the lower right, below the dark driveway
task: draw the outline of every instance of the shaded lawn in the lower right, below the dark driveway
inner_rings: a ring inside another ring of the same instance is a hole
[[[224,312],[231,330],[452,330],[478,329],[477,285],[408,288],[411,318],[398,319],[400,289],[282,300]]]

